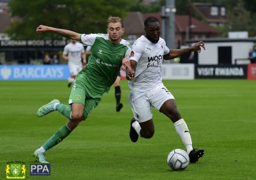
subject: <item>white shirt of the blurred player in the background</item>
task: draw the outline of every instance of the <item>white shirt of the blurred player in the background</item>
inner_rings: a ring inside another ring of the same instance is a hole
[[[68,56],[68,64],[81,64],[83,52],[84,52],[83,44],[76,42],[75,44],[68,43],[64,47],[63,54]]]

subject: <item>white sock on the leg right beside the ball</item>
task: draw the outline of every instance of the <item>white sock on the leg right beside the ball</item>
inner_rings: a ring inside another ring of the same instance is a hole
[[[193,150],[193,146],[186,122],[184,121],[184,119],[180,119],[179,121],[174,123],[174,126],[176,132],[180,135],[180,138],[187,149],[187,153],[189,154],[190,151]]]

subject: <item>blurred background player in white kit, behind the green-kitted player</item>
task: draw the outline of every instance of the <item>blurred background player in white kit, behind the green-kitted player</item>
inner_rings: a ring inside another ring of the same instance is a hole
[[[76,75],[83,68],[81,60],[83,59],[83,63],[86,63],[83,44],[76,40],[71,40],[71,42],[64,47],[62,57],[68,61],[68,68],[71,74],[71,77],[68,78],[68,87],[70,87],[72,82],[76,79]]]

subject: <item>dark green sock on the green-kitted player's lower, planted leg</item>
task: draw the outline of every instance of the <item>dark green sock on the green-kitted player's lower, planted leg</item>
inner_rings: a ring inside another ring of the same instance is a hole
[[[71,132],[72,130],[70,130],[70,128],[68,128],[65,124],[58,131],[56,131],[56,133],[54,133],[54,135],[52,135],[52,137],[47,140],[47,142],[45,142],[42,147],[45,149],[45,151],[51,149],[52,147],[60,143],[63,139],[65,139],[65,137],[67,137]]]

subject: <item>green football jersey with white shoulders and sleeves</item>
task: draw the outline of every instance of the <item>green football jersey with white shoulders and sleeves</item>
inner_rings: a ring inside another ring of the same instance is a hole
[[[77,75],[76,83],[83,83],[86,93],[92,98],[101,98],[115,82],[122,59],[129,59],[131,45],[122,40],[111,43],[108,34],[82,34],[81,42],[92,47],[90,61]]]

